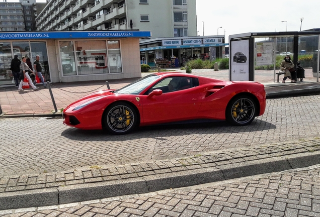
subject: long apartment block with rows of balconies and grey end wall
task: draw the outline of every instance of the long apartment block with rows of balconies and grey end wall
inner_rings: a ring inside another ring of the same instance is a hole
[[[52,0],[37,30],[140,30],[151,38],[196,36],[196,0]]]

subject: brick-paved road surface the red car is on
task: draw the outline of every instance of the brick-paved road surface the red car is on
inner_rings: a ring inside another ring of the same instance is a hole
[[[318,137],[319,97],[268,99],[265,114],[246,127],[224,122],[144,127],[125,136],[69,128],[60,118],[3,118],[0,177],[193,156]]]

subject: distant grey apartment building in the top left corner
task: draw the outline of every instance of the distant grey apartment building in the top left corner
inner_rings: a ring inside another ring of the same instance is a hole
[[[35,0],[20,2],[0,2],[0,31],[33,31],[36,30],[37,11],[41,11],[46,3]]]

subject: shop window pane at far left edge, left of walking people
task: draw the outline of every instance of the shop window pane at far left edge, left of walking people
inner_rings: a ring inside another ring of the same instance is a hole
[[[10,42],[0,43],[0,84],[11,84],[13,79],[11,68],[11,45]]]

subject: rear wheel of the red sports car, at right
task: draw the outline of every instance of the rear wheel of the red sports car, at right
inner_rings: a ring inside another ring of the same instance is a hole
[[[234,126],[250,124],[256,117],[257,104],[252,97],[241,95],[232,98],[226,108],[226,121]]]

